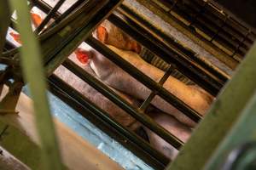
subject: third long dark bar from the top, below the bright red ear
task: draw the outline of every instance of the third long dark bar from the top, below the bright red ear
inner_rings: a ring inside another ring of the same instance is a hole
[[[103,82],[97,80],[95,77],[92,77],[78,65],[74,64],[73,61],[67,59],[63,65],[69,71],[72,71],[76,76],[84,80],[84,82],[87,82],[91,87],[95,88],[98,92],[113,101],[114,104],[119,105],[121,109],[136,118],[137,121],[143,123],[144,126],[158,134],[162,139],[165,139],[169,144],[172,144],[176,149],[179,149],[183,145],[183,142],[180,139],[177,139],[177,137],[173,136],[165,128],[155,123],[142,111],[137,110],[134,106],[125,101],[125,99],[122,99],[118,94],[116,94],[111,88],[108,88],[108,86],[106,86]]]

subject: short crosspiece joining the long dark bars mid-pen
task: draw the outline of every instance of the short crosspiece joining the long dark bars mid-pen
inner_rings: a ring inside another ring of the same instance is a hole
[[[172,71],[174,71],[175,66],[174,65],[170,65],[168,70],[166,71],[165,75],[163,77],[161,77],[160,81],[158,82],[160,86],[162,86],[168,77],[170,77],[170,75],[172,74]],[[143,102],[143,104],[139,107],[140,111],[145,111],[148,107],[148,105],[150,105],[152,99],[154,99],[154,96],[157,93],[155,91],[151,92],[151,94],[148,95],[148,98]]]

